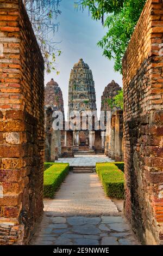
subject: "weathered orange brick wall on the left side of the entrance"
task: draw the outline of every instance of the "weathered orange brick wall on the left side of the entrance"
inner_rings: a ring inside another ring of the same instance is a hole
[[[43,211],[43,58],[22,1],[0,0],[0,244],[27,243]]]

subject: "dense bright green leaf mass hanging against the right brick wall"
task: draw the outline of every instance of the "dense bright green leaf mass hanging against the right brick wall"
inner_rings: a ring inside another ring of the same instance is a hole
[[[121,11],[109,15],[104,22],[108,32],[97,45],[102,47],[104,56],[115,59],[115,71],[122,73],[122,58],[145,2],[146,0],[126,0]]]

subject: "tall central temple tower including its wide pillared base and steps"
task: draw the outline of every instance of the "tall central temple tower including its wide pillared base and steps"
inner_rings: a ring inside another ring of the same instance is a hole
[[[80,115],[80,128],[74,122],[73,127],[67,130],[67,141],[65,146],[72,146],[73,152],[96,153],[104,148],[102,145],[101,131],[96,130],[97,108],[95,82],[93,81],[92,71],[89,66],[79,59],[74,64],[70,74],[69,91],[68,91],[68,122],[73,121],[74,114]],[[89,127],[88,113],[91,116],[92,127]],[[85,115],[85,120],[82,116]]]

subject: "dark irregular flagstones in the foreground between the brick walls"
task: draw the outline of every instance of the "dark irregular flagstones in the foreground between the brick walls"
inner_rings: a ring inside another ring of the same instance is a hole
[[[138,245],[121,216],[55,217],[46,213],[30,245]]]

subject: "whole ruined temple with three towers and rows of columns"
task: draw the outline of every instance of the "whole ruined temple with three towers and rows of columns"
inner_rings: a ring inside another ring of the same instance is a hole
[[[65,121],[61,89],[53,79],[49,81],[45,87],[45,160],[104,152],[112,159],[122,160],[123,112],[115,105],[111,108],[108,103],[120,90],[114,80],[105,87],[101,102],[104,120],[99,122],[92,71],[83,59],[79,59],[70,74],[68,121]],[[62,112],[62,129],[53,129],[53,121],[57,118],[53,115],[55,111]],[[111,112],[110,122],[106,121],[108,111]]]

